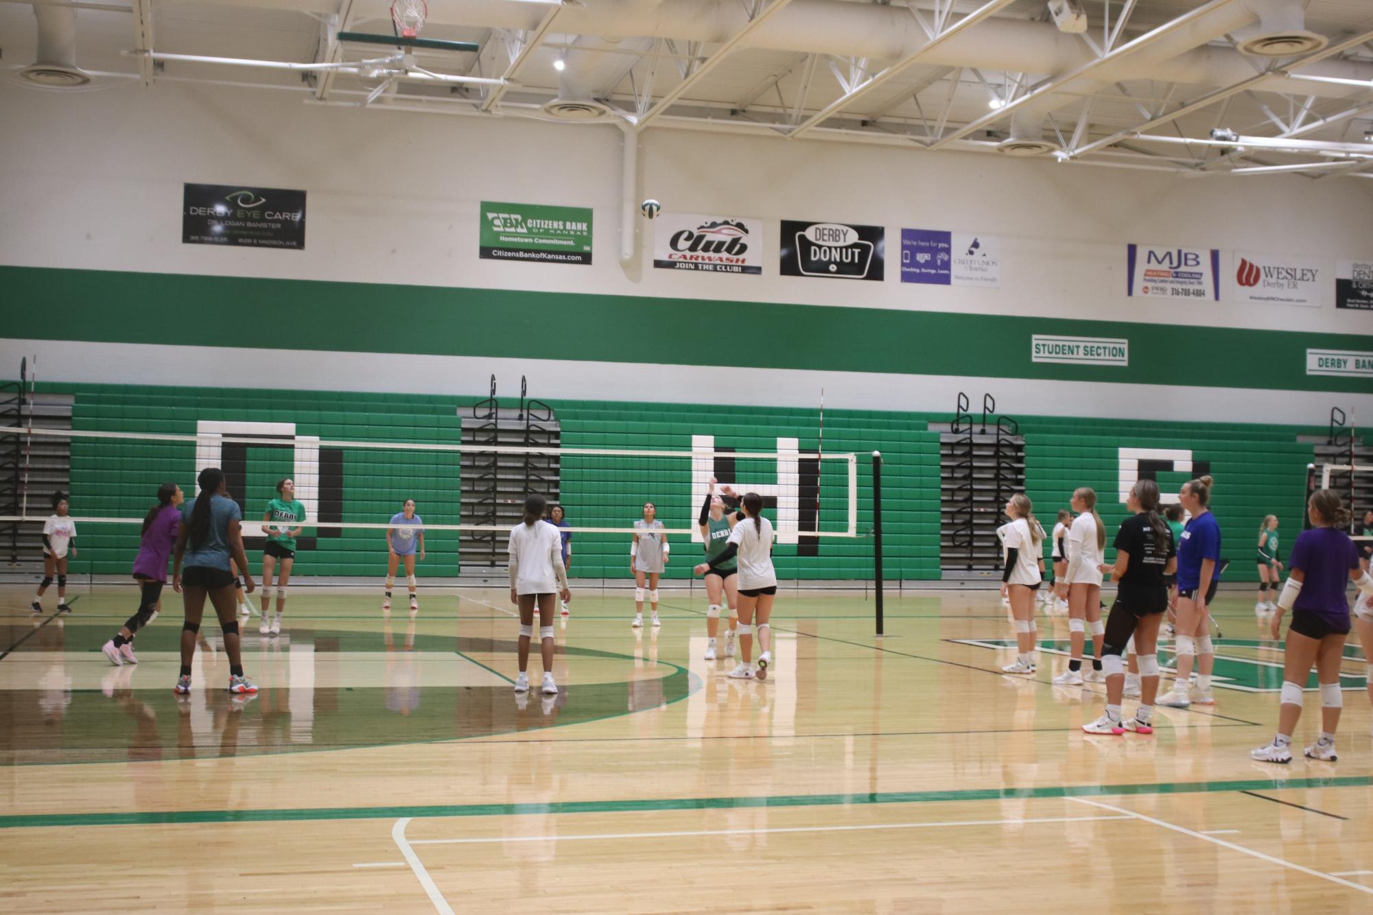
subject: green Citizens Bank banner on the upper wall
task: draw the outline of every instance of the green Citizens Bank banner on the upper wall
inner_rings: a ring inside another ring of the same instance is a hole
[[[482,259],[592,262],[590,207],[482,200],[481,222]]]

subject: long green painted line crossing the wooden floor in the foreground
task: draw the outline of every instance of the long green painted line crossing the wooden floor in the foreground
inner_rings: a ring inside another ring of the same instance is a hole
[[[945,792],[884,792],[868,794],[780,794],[772,797],[665,797],[618,801],[557,801],[551,804],[426,804],[405,807],[316,807],[243,811],[165,811],[126,813],[26,813],[0,816],[0,829],[69,826],[157,826],[181,823],[277,823],[442,816],[555,816],[563,813],[643,813],[787,807],[861,807],[869,804],[930,804],[1004,801],[1012,798],[1119,797],[1141,794],[1214,794],[1281,792],[1297,787],[1368,787],[1373,776],[1248,779],[1233,782],[1160,782],[1155,785],[1065,785],[989,787]]]

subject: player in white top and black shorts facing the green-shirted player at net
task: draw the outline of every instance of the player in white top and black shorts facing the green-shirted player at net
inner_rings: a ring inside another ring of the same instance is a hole
[[[736,524],[729,532],[725,549],[693,571],[696,575],[721,575],[725,564],[737,557],[739,562],[739,653],[741,661],[729,672],[740,680],[768,679],[772,667],[772,608],[777,599],[777,572],[772,564],[772,521],[763,517],[763,497],[746,492],[741,510],[735,513]],[[752,668],[754,613],[758,613],[758,671]]]

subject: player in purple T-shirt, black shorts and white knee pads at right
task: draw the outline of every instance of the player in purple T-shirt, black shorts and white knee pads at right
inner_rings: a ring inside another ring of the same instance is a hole
[[[1329,763],[1337,759],[1335,728],[1344,704],[1340,661],[1344,657],[1344,637],[1350,632],[1350,602],[1344,587],[1352,580],[1365,595],[1373,594],[1373,578],[1359,567],[1354,540],[1339,530],[1348,527],[1351,516],[1335,490],[1313,492],[1307,517],[1311,519],[1311,530],[1297,534],[1292,545],[1292,571],[1273,615],[1274,641],[1282,638],[1282,615],[1287,610],[1292,610],[1292,624],[1284,652],[1278,733],[1271,744],[1249,752],[1263,763],[1292,760],[1292,733],[1302,717],[1302,693],[1313,663],[1321,683],[1321,738],[1306,748],[1306,756]]]

